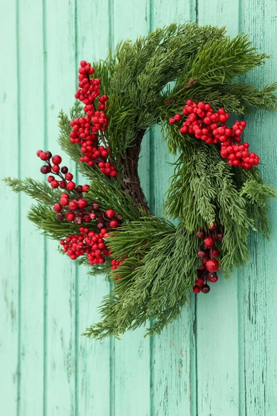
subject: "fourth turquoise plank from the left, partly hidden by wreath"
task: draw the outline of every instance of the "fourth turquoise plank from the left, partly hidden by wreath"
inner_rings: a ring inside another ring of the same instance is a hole
[[[77,16],[77,61],[105,59],[109,51],[109,3],[93,0],[84,6],[78,0]],[[86,183],[80,175],[79,182]],[[78,411],[80,415],[109,415],[109,399],[103,400],[103,392],[109,397],[110,340],[80,338],[89,324],[100,320],[97,308],[109,292],[109,282],[103,276],[91,277],[87,272],[87,268],[78,267]]]

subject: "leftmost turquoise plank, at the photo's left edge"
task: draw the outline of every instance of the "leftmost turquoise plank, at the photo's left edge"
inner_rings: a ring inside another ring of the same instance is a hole
[[[0,177],[19,175],[19,118],[17,117],[17,9],[16,1],[0,3],[1,65],[0,109],[1,120]],[[19,203],[16,196],[0,182],[3,245],[1,247],[0,286],[0,354],[1,408],[3,413],[17,415],[17,386],[19,385]]]

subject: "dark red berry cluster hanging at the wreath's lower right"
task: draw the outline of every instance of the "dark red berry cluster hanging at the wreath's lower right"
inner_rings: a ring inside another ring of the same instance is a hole
[[[217,270],[219,268],[217,257],[220,256],[220,250],[214,247],[215,241],[222,241],[222,232],[216,232],[217,224],[209,227],[209,233],[206,234],[203,229],[197,232],[198,239],[204,240],[204,248],[197,251],[197,257],[201,259],[202,265],[197,269],[197,279],[195,280],[195,286],[193,286],[193,292],[208,293],[210,286],[207,282],[215,283],[218,279]]]

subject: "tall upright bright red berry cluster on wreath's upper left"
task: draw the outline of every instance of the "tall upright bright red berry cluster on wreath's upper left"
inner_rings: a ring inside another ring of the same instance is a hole
[[[91,64],[86,61],[80,62],[79,68],[79,89],[75,98],[84,103],[84,112],[86,116],[72,120],[70,122],[73,128],[70,133],[71,143],[78,143],[81,146],[81,152],[84,156],[80,157],[81,162],[86,162],[89,166],[98,164],[100,171],[106,176],[116,176],[116,169],[109,162],[109,147],[99,146],[99,139],[105,145],[103,132],[107,129],[108,119],[105,109],[108,104],[107,95],[100,96],[100,79],[90,78],[94,73]],[[96,98],[98,108],[96,109]]]

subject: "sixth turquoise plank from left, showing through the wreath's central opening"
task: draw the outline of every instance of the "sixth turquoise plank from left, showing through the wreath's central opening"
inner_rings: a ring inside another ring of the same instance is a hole
[[[195,21],[195,1],[151,1],[151,28],[172,22]],[[175,157],[168,152],[159,128],[151,137],[151,205],[161,215]],[[181,318],[152,337],[152,415],[195,415],[195,336],[194,302],[184,308]]]

